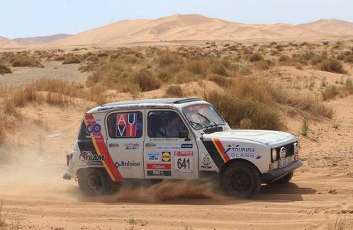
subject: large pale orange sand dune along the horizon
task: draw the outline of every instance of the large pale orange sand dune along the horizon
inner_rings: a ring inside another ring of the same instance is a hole
[[[160,40],[234,40],[254,38],[307,38],[318,36],[353,36],[353,23],[320,20],[291,25],[251,25],[224,21],[206,16],[172,15],[164,18],[118,21],[88,30],[50,45],[115,44]]]

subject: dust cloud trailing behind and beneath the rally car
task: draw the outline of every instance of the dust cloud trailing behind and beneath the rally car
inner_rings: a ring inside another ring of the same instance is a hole
[[[64,154],[23,147],[0,149],[0,199],[51,202],[167,202],[178,199],[223,199],[215,181],[126,181],[111,195],[88,197],[74,180],[62,179]],[[6,161],[4,160],[6,159]]]

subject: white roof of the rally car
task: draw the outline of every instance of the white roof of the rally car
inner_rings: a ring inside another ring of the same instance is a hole
[[[100,105],[99,107],[92,108],[87,113],[97,113],[100,111],[114,110],[119,108],[150,108],[154,106],[169,107],[174,104],[189,103],[194,101],[201,101],[200,98],[155,98],[143,100],[125,100],[113,103]]]

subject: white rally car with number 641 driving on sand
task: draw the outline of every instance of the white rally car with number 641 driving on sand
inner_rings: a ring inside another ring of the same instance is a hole
[[[292,134],[231,130],[206,101],[161,98],[89,110],[63,178],[78,180],[87,195],[103,195],[129,179],[216,174],[228,194],[251,197],[262,183],[288,183],[301,165]]]

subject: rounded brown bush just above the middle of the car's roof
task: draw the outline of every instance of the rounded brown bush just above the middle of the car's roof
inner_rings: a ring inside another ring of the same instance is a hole
[[[140,86],[142,91],[152,91],[162,85],[157,76],[153,76],[148,69],[140,69],[135,73],[134,81]]]

